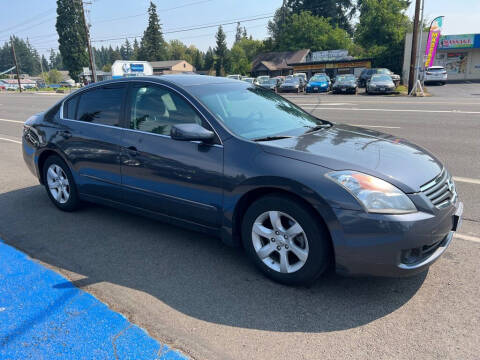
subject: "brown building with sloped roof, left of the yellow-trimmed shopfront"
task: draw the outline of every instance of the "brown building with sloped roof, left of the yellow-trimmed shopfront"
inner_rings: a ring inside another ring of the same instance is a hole
[[[293,73],[290,63],[305,61],[309,49],[298,51],[276,51],[258,54],[252,61],[252,76],[285,76]]]

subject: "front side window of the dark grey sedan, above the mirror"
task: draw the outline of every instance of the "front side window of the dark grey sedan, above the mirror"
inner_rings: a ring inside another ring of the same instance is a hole
[[[160,86],[134,85],[130,94],[130,129],[170,135],[175,124],[204,125],[190,104]]]

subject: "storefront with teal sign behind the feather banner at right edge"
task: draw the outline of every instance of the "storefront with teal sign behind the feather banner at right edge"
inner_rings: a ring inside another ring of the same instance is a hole
[[[425,54],[428,33],[422,34],[419,56]],[[405,39],[403,79],[410,71],[412,34]],[[423,65],[423,64],[422,64]],[[438,44],[435,65],[445,67],[449,80],[480,80],[480,34],[442,35]]]

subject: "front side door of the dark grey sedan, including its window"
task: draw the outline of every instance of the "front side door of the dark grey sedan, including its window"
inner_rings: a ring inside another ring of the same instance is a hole
[[[207,226],[218,226],[222,206],[223,146],[170,137],[175,124],[210,125],[175,90],[133,83],[122,148],[125,199],[133,206]]]

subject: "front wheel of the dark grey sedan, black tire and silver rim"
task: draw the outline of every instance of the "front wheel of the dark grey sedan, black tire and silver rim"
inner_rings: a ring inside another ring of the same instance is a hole
[[[274,227],[272,218],[281,219],[280,226]],[[267,277],[286,285],[308,285],[325,272],[331,258],[329,238],[311,211],[288,196],[258,199],[242,221],[242,242],[251,261]]]

